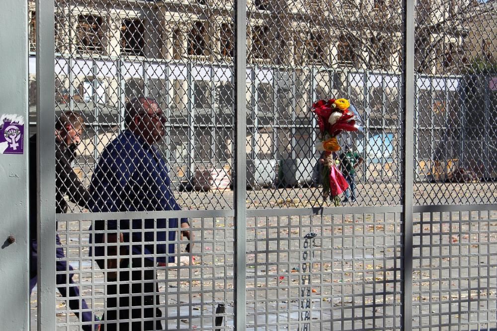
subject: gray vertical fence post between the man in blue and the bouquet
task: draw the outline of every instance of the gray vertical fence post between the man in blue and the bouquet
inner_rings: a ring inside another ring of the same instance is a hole
[[[236,0],[236,150],[235,166],[235,330],[246,330],[247,293],[247,0]]]

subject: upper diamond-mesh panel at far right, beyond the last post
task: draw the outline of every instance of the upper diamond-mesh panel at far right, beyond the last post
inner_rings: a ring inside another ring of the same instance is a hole
[[[417,1],[415,199],[494,203],[497,6]]]

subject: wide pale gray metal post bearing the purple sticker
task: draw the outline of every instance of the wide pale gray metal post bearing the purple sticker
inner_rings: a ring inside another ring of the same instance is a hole
[[[3,197],[0,201],[2,210],[0,321],[2,330],[29,330],[28,257],[30,243],[29,204],[26,203],[29,194],[27,2],[0,1],[0,12],[2,13],[0,20],[1,113],[18,116],[24,122],[22,132],[24,139],[19,138],[17,141],[19,145],[22,144],[23,154],[0,154],[0,187]],[[52,11],[52,19],[53,17]],[[52,65],[53,63],[52,60]],[[39,81],[38,79],[38,86],[40,86]],[[6,240],[7,238],[10,239]]]

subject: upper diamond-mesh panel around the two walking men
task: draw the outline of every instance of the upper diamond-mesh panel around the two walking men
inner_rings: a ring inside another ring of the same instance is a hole
[[[233,1],[55,5],[55,115],[83,117],[82,142],[71,160],[83,183],[105,147],[129,129],[127,102],[144,96],[164,113],[164,135],[155,145],[179,205],[233,207]],[[30,17],[34,12],[31,6]],[[205,191],[215,194],[206,199]],[[82,208],[70,204],[69,210]]]

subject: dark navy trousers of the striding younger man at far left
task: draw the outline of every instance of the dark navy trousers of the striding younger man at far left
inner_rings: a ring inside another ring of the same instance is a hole
[[[57,245],[60,245],[60,238],[57,235]],[[33,288],[35,287],[36,283],[38,282],[38,275],[37,275],[37,260],[38,260],[38,243],[36,240],[31,240],[31,254],[30,254],[30,261],[29,261],[29,294],[33,291]],[[64,256],[64,250],[61,247],[58,247],[56,250],[56,257],[57,259],[63,259],[65,258]],[[73,267],[71,265],[68,265],[66,261],[64,260],[57,260],[56,262],[56,267],[57,271],[67,271],[69,267],[69,271],[73,271]],[[73,313],[81,319],[82,322],[91,322],[92,321],[92,312],[82,312],[81,316],[80,313],[78,312],[80,309],[88,309],[88,306],[86,305],[86,302],[82,299],[81,300],[81,308],[80,308],[80,289],[79,286],[72,286],[74,284],[73,281],[73,273],[69,273],[69,297],[75,297],[76,299],[74,300],[69,300],[69,308],[73,310]],[[58,286],[57,289],[59,290],[60,294],[62,297],[66,298],[68,295],[68,288],[66,287],[67,284],[67,276],[68,274],[58,274],[56,276],[56,284],[57,285],[64,285],[64,286]],[[99,320],[95,317],[95,321],[98,322]],[[95,329],[98,324],[95,324]],[[82,329],[84,331],[91,331],[91,325],[84,325],[82,326]]]

